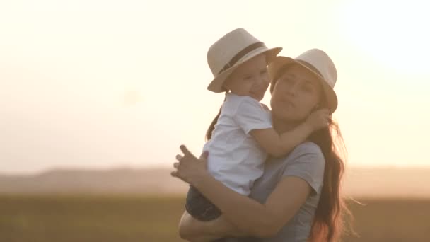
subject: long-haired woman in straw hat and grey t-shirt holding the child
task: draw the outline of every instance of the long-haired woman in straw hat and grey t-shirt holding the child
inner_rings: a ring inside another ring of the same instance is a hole
[[[337,71],[325,52],[313,49],[296,59],[277,57],[268,71],[272,122],[278,133],[294,129],[315,109],[336,110]],[[327,128],[313,132],[288,156],[269,158],[250,197],[212,178],[205,166],[207,154],[197,159],[181,146],[184,156],[176,157],[179,162],[172,175],[197,188],[223,215],[216,221],[200,222],[185,213],[180,235],[191,241],[226,236],[250,236],[255,241],[337,241],[346,207],[339,195],[344,162],[335,141],[342,142],[342,137],[330,120]],[[245,241],[252,241],[250,237]]]

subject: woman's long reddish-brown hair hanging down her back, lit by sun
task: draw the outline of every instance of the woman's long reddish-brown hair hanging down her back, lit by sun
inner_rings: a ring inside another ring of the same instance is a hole
[[[284,67],[274,76],[270,86],[271,93],[279,77],[289,67],[291,65]],[[322,103],[324,103],[324,100],[322,100]],[[324,105],[322,104],[322,106]],[[351,213],[344,202],[344,197],[341,195],[341,182],[345,168],[344,157],[342,156],[345,154],[346,149],[339,125],[330,120],[328,127],[313,132],[308,137],[308,140],[320,147],[325,158],[324,180],[310,230],[309,241],[337,242],[344,232],[344,215],[351,217]]]

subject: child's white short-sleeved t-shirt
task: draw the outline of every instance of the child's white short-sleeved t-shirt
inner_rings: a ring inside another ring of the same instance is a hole
[[[249,132],[271,127],[270,112],[261,103],[249,96],[227,93],[212,137],[203,147],[209,151],[209,173],[228,188],[249,195],[267,158]]]

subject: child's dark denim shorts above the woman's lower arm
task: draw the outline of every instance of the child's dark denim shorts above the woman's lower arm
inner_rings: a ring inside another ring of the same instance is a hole
[[[196,188],[190,186],[187,193],[185,210],[199,221],[211,221],[221,216],[221,211],[207,200]]]

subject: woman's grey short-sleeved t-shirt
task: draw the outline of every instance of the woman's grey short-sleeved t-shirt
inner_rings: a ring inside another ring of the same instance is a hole
[[[265,173],[255,181],[250,197],[265,203],[267,197],[286,176],[296,176],[310,185],[312,193],[294,217],[272,238],[236,238],[228,241],[300,242],[310,235],[313,215],[320,200],[325,159],[318,145],[304,142],[286,157],[272,158],[265,163]]]

